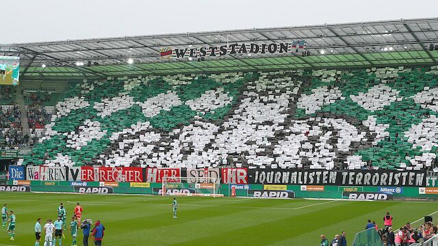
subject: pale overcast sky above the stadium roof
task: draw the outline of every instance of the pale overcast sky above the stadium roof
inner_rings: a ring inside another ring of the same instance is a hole
[[[5,3],[13,6],[1,10],[7,31],[0,33],[0,44],[438,16],[437,0],[20,0]]]

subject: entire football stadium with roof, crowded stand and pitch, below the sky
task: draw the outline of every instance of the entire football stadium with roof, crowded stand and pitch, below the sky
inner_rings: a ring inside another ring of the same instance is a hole
[[[0,245],[438,244],[438,18],[107,37],[0,44]]]

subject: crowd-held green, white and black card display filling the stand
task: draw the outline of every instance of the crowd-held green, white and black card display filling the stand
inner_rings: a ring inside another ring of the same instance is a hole
[[[433,66],[86,81],[22,163],[424,169],[437,77]]]

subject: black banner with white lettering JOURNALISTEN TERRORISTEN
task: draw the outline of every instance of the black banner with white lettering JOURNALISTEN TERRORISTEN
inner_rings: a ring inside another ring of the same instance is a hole
[[[422,187],[424,172],[391,170],[327,171],[314,169],[249,169],[250,184],[313,184]]]

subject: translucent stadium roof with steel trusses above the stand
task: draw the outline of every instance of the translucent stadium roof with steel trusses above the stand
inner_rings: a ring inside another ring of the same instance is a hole
[[[166,61],[159,57],[159,49],[168,46],[262,44],[297,39],[307,42],[309,56],[240,54],[207,57],[204,61]],[[430,44],[438,44],[438,18],[8,44],[0,46],[0,55],[20,55],[22,79],[80,79],[84,76],[438,64],[438,51],[429,51]],[[127,64],[129,58],[134,64]],[[76,66],[78,61],[85,66]],[[88,61],[91,66],[87,66]],[[42,64],[46,67],[42,68]]]

